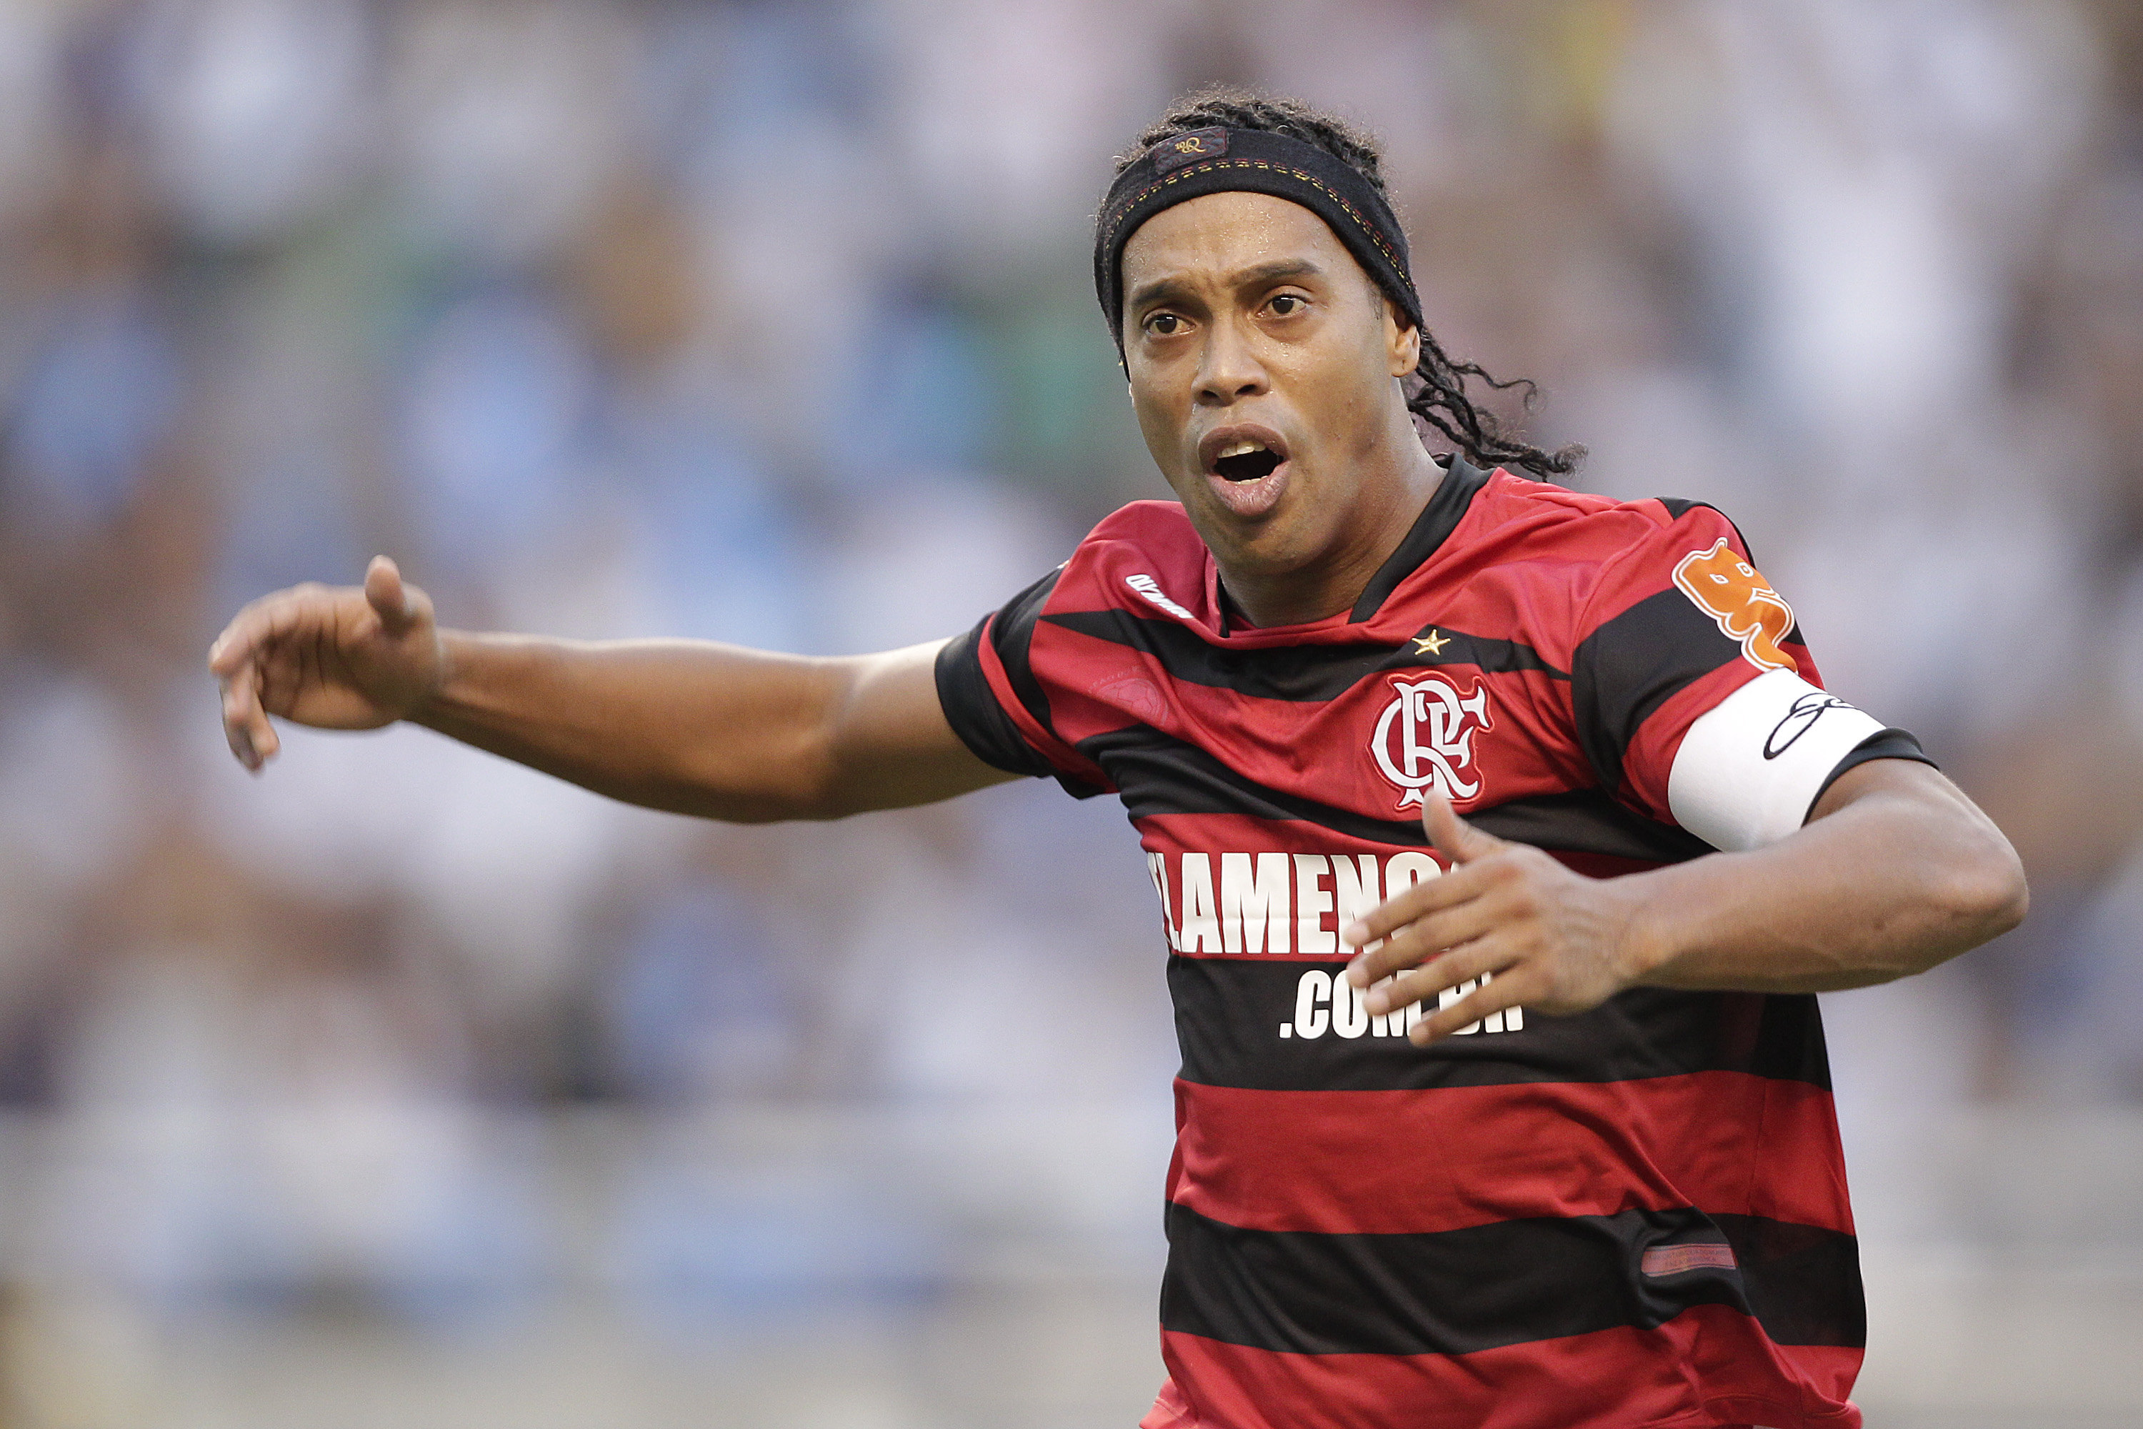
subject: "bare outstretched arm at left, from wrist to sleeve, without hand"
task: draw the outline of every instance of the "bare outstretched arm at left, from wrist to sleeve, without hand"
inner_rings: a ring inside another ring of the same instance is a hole
[[[628,803],[731,823],[840,818],[1014,778],[945,722],[941,645],[814,660],[446,630],[439,686],[409,718]]]

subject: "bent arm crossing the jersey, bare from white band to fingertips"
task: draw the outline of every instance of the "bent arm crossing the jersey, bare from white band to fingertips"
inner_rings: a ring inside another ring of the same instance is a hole
[[[1599,1007],[1624,988],[1832,992],[1890,981],[2014,928],[2017,853],[1931,767],[1877,758],[1832,782],[1809,823],[1749,853],[1586,878],[1483,833],[1442,799],[1423,825],[1451,872],[1344,930],[1372,1013],[1492,981],[1414,1024],[1444,1037],[1492,1011]]]

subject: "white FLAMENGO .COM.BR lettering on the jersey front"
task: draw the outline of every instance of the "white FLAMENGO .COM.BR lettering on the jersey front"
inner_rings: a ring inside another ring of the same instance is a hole
[[[1217,872],[1215,872],[1217,861]],[[1170,868],[1172,863],[1172,868]],[[1367,915],[1384,898],[1436,878],[1442,866],[1427,853],[1147,853],[1153,891],[1162,898],[1168,947],[1189,956],[1277,953],[1294,958],[1346,958],[1339,928]],[[1387,979],[1389,981],[1389,979]],[[1438,994],[1451,1007],[1479,988],[1464,981]],[[1417,1003],[1404,1011],[1372,1016],[1363,990],[1337,971],[1307,968],[1297,981],[1294,1007],[1279,1022],[1282,1037],[1404,1037],[1425,1013]],[[1459,1033],[1515,1033],[1526,1026],[1526,1009],[1489,1013]]]

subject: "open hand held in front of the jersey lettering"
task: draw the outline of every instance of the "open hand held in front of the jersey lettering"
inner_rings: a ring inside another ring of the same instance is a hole
[[[1421,812],[1421,827],[1451,870],[1339,934],[1354,947],[1384,938],[1346,971],[1357,988],[1397,975],[1365,994],[1372,1013],[1410,1007],[1492,973],[1494,981],[1408,1031],[1417,1046],[1427,1046],[1513,1005],[1577,1013],[1635,983],[1629,943],[1637,893],[1627,878],[1575,874],[1539,848],[1474,829],[1436,795]]]

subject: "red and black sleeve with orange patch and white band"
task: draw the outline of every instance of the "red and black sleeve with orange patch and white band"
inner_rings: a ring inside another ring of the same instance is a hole
[[[1667,521],[1603,563],[1579,615],[1571,707],[1603,788],[1714,848],[1755,848],[1798,829],[1856,763],[1927,761],[1822,688],[1734,523],[1659,506]]]

